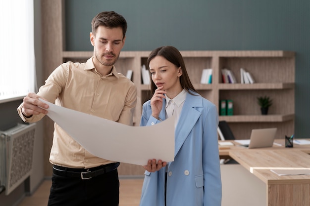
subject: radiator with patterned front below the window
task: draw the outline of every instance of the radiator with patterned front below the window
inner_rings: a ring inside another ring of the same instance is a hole
[[[17,124],[0,131],[0,185],[11,193],[31,173],[35,123]]]

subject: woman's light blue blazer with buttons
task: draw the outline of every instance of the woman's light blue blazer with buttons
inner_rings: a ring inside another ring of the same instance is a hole
[[[167,170],[167,206],[221,206],[217,110],[213,103],[195,94],[186,94],[175,128],[174,161]],[[166,119],[165,101],[159,118]],[[150,100],[144,103],[140,125],[159,122],[152,116]],[[164,206],[165,170],[145,171],[140,206]]]

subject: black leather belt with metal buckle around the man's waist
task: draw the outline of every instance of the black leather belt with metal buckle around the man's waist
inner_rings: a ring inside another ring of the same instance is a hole
[[[90,179],[113,171],[119,166],[119,163],[111,163],[89,169],[82,168],[68,168],[58,165],[53,165],[53,173],[64,177],[78,177],[81,179]]]

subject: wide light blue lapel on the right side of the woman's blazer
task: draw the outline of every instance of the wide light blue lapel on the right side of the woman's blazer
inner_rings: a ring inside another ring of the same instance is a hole
[[[178,122],[175,129],[174,157],[178,154],[187,136],[201,116],[201,112],[196,110],[196,107],[202,106],[203,102],[201,96],[194,96],[189,93],[186,94],[186,100],[180,114],[181,121]]]

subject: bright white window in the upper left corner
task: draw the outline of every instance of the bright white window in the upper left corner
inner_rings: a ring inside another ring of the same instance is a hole
[[[0,103],[35,88],[33,0],[0,1]]]

